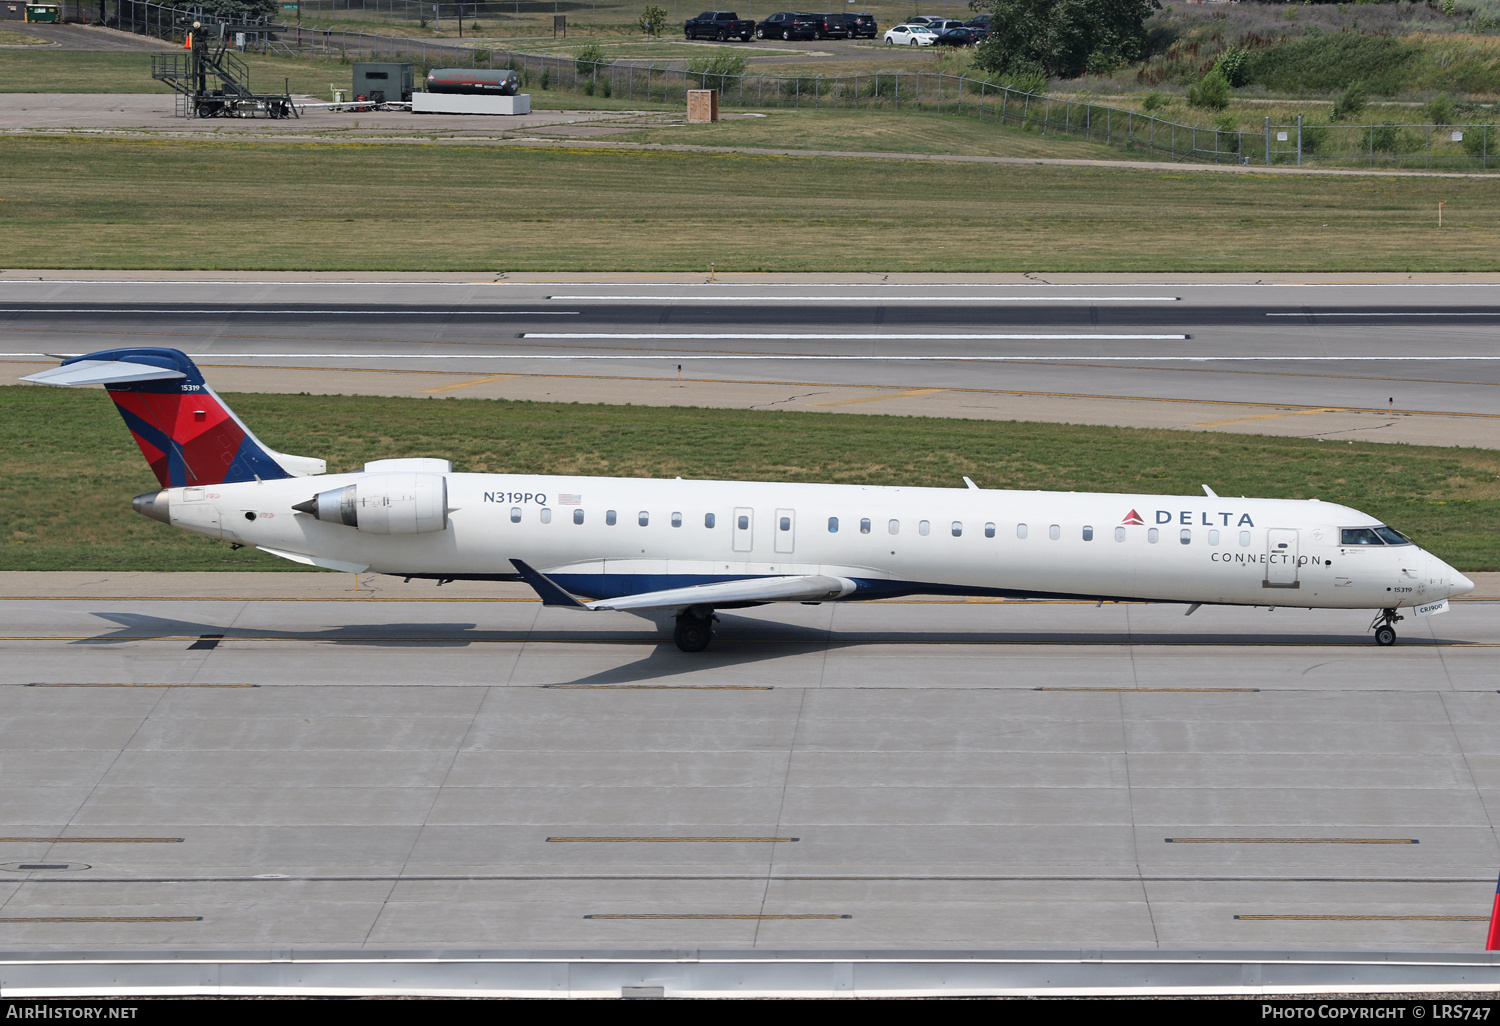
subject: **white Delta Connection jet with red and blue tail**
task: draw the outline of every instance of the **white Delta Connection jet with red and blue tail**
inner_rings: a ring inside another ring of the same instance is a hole
[[[136,513],[285,560],[514,580],[549,606],[672,612],[909,594],[1444,612],[1473,584],[1359,510],[1317,500],[454,474],[382,459],[326,474],[267,448],[177,350],[108,350],[27,381],[102,384],[162,488]]]

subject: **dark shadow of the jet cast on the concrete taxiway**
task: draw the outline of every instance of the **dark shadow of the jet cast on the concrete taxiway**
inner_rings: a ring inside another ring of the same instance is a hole
[[[368,645],[386,648],[465,648],[483,644],[600,644],[650,645],[651,654],[626,666],[615,666],[570,681],[572,684],[626,684],[660,680],[705,669],[730,669],[772,658],[855,648],[862,645],[994,645],[994,646],[1066,646],[1110,648],[1126,645],[1167,648],[1358,648],[1380,651],[1364,633],[1288,632],[1288,633],[1125,633],[1125,632],[916,632],[861,630],[837,632],[824,627],[778,624],[764,620],[720,614],[722,622],[712,648],[706,652],[684,654],[666,638],[670,621],[658,622],[658,632],[630,632],[620,627],[579,630],[482,630],[472,622],[384,622],[344,624],[321,630],[256,630],[216,624],[150,616],[130,612],[96,612],[102,620],[118,624],[96,638],[72,642],[81,645],[122,644],[153,639],[196,640],[286,640],[327,642],[334,645]],[[1407,638],[1406,648],[1434,648],[1464,644],[1461,640]]]

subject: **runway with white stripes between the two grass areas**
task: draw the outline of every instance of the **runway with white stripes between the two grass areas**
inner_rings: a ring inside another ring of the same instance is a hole
[[[1486,282],[0,279],[12,381],[42,354],[172,345],[225,390],[1485,447],[1500,444],[1497,326]]]

